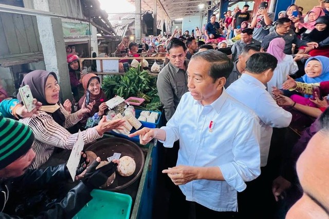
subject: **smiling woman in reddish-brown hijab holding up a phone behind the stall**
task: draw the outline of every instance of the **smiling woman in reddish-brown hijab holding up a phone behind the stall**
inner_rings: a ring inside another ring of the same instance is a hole
[[[90,91],[89,103],[95,103],[90,112],[83,115],[80,124],[84,128],[92,128],[96,126],[107,112],[106,95],[101,89],[100,79],[96,74],[86,74],[82,78],[82,86],[84,88],[84,95],[81,97],[78,105],[78,109],[81,109],[85,105],[86,91]]]

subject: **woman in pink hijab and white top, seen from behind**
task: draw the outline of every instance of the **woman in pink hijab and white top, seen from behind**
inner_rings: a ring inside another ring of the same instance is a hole
[[[283,38],[275,38],[269,43],[267,52],[278,59],[277,68],[273,72],[271,80],[267,83],[267,88],[281,88],[286,81],[287,75],[295,74],[298,71],[296,59],[292,55],[286,55],[284,51],[285,41]]]

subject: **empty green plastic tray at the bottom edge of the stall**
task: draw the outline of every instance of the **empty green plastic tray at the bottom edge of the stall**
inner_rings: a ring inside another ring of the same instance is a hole
[[[129,219],[132,197],[127,194],[94,189],[90,200],[73,218]]]

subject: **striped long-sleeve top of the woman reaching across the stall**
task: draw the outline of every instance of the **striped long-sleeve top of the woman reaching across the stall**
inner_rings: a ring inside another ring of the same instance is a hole
[[[35,137],[32,145],[32,149],[35,152],[35,160],[30,167],[31,169],[37,169],[46,163],[55,147],[70,150],[77,140],[78,133],[71,134],[66,130],[66,128],[74,126],[80,121],[77,113],[68,114],[62,105],[60,107],[61,112],[65,116],[64,127],[56,123],[51,115],[44,111],[39,111],[38,115],[20,120],[20,122],[32,129]],[[85,144],[102,137],[98,134],[96,127],[86,129],[81,134]]]

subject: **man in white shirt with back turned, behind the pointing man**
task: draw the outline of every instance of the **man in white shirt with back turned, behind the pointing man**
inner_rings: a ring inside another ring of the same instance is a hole
[[[272,127],[283,128],[289,126],[291,122],[291,113],[279,107],[276,101],[272,96],[267,92],[265,84],[270,81],[273,76],[273,71],[277,67],[278,61],[277,58],[272,56],[269,53],[255,53],[251,55],[246,63],[246,69],[244,74],[233,82],[227,89],[227,93],[233,96],[235,99],[254,110],[255,113],[260,118],[261,125],[261,142],[260,142],[260,151],[261,151],[261,167],[265,167],[267,164],[267,158],[269,154],[269,148],[272,137]],[[263,176],[266,169],[262,168]],[[240,202],[239,200],[239,214],[246,211],[251,211],[250,213],[259,213],[255,212],[255,206],[246,207],[250,203],[251,193],[254,194],[254,197],[257,197],[257,194],[264,195],[268,189],[266,183],[269,181],[266,178],[257,178],[259,182],[259,187],[254,188],[256,191],[250,192],[246,196],[245,202]],[[261,183],[262,182],[262,183]],[[251,182],[252,183],[252,182]],[[250,190],[248,185],[248,190]],[[263,191],[263,192],[262,192]],[[268,192],[268,191],[267,191]],[[244,192],[239,194],[239,196],[244,195]],[[262,196],[260,196],[262,197]],[[266,202],[261,198],[255,198],[260,202]],[[249,203],[248,203],[249,202]],[[254,203],[254,202],[253,202]],[[241,207],[241,208],[240,208]],[[267,216],[254,217],[252,215],[243,215],[243,218],[269,218]]]

